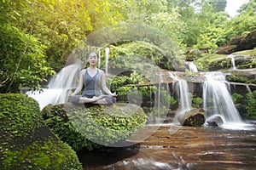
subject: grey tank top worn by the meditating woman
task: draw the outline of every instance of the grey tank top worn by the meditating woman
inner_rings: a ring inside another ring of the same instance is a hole
[[[97,69],[96,75],[90,77],[87,69],[84,71],[84,91],[82,96],[92,98],[102,95],[102,81],[100,71]]]

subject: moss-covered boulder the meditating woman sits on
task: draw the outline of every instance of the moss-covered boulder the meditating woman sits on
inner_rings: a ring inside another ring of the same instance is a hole
[[[143,109],[131,104],[47,105],[46,124],[73,150],[121,146],[146,122]]]

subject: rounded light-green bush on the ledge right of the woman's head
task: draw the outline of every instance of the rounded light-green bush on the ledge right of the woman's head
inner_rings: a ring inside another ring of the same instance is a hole
[[[166,58],[163,51],[147,42],[129,42],[111,46],[109,62],[113,69],[137,71],[140,74],[150,75],[159,69],[158,67],[173,70],[172,61]]]

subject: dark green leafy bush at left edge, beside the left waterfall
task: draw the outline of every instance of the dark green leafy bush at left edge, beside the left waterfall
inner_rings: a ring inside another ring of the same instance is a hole
[[[53,75],[46,63],[44,45],[15,26],[3,25],[0,34],[0,93],[19,92],[20,87],[41,88]]]

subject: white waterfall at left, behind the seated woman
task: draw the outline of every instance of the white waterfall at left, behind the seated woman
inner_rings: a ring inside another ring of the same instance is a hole
[[[80,62],[67,65],[49,81],[48,88],[43,88],[40,92],[30,91],[26,94],[38,101],[41,110],[49,104],[63,104],[67,102],[70,90],[77,87],[79,70]]]

